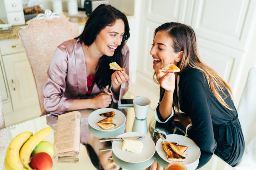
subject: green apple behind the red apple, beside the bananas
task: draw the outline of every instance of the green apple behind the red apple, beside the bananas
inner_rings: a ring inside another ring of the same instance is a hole
[[[52,157],[54,155],[54,148],[52,144],[47,141],[41,141],[40,143],[38,143],[38,145],[36,145],[35,149],[31,154],[31,157],[33,155],[36,155],[37,153],[42,152],[48,153]]]

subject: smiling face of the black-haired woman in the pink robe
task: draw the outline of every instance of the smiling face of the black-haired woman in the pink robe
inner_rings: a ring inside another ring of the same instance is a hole
[[[106,26],[97,35],[93,44],[102,55],[113,56],[115,49],[121,44],[125,33],[123,20],[118,19],[112,26]]]

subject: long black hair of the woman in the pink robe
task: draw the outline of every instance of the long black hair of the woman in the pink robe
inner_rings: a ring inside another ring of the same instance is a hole
[[[128,20],[126,16],[115,7],[105,4],[99,5],[88,18],[81,35],[75,38],[80,38],[81,43],[84,42],[84,45],[90,46],[95,41],[96,36],[102,29],[104,29],[106,26],[114,25],[115,21],[118,19],[123,20],[125,25],[125,33],[123,35],[121,44],[115,49],[112,57],[106,55],[100,57],[100,60],[96,66],[96,75],[94,80],[100,89],[103,89],[107,85],[110,86],[111,84],[111,75],[115,70],[109,69],[110,62],[115,61],[118,63],[118,65],[120,65],[120,67],[123,66],[123,55],[121,50],[126,40],[128,40],[130,37]]]

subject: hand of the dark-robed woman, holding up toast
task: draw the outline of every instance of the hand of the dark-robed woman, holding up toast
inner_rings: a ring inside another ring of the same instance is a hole
[[[174,92],[175,75],[173,72],[163,72],[161,69],[157,69],[156,80],[162,88],[167,91]]]

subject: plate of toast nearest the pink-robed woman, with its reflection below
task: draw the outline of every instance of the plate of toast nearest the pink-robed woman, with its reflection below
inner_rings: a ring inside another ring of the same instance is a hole
[[[113,123],[115,123],[115,126],[108,130],[104,130],[97,125],[97,122],[107,117],[100,116],[100,113],[111,112],[111,111],[114,111],[116,115],[115,117],[113,117]],[[125,121],[126,121],[126,118],[123,112],[113,108],[102,108],[102,109],[95,110],[88,117],[90,133],[97,136],[98,138],[114,138],[122,134],[125,131]]]

